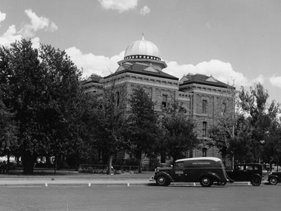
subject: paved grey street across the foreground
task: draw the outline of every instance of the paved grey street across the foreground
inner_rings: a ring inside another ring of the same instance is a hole
[[[281,185],[1,187],[0,210],[281,210]]]

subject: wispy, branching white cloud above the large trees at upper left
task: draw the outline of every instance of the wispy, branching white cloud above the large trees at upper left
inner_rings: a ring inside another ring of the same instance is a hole
[[[49,30],[51,32],[58,29],[55,23],[50,23],[49,18],[45,18],[43,16],[39,17],[30,9],[25,10],[25,14],[27,14],[29,17],[30,23],[23,25],[23,28],[19,31],[19,33],[23,34],[25,37],[33,37],[35,32],[37,32],[39,29]]]

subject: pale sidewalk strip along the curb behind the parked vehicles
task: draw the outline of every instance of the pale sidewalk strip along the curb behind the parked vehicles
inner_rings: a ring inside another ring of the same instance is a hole
[[[149,182],[153,171],[120,175],[78,173],[77,171],[58,171],[56,175],[0,175],[0,188],[21,186],[154,186]],[[267,183],[263,180],[262,184]],[[172,183],[171,186],[200,186],[199,183]],[[252,186],[250,182],[235,182],[227,186]]]

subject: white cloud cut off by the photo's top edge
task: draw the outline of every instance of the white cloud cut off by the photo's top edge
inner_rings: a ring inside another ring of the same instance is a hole
[[[106,10],[118,10],[120,13],[132,10],[138,5],[138,0],[99,0]]]

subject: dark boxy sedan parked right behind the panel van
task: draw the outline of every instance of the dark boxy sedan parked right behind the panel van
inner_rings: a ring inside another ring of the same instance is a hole
[[[234,164],[234,169],[227,170],[230,182],[251,182],[253,186],[260,186],[262,182],[262,165],[256,163]]]

